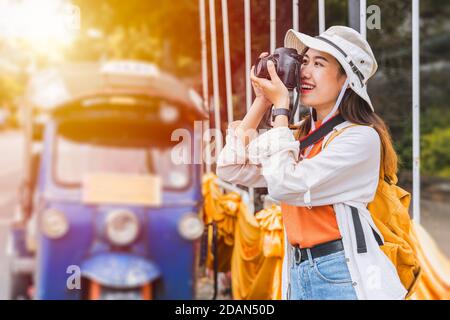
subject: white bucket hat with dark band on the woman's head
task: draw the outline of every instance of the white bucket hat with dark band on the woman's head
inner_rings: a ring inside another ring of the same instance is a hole
[[[288,30],[284,38],[286,48],[301,53],[305,47],[331,54],[344,68],[350,88],[375,111],[367,93],[367,80],[378,69],[369,43],[356,30],[345,26],[333,26],[317,37]],[[340,100],[340,99],[339,99]]]

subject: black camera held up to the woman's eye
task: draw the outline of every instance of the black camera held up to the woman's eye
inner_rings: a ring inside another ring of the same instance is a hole
[[[277,48],[273,54],[258,58],[255,64],[255,75],[258,78],[270,80],[270,75],[267,70],[267,61],[269,60],[272,60],[278,77],[280,77],[288,90],[298,88],[302,56],[297,53],[297,50],[292,48]]]

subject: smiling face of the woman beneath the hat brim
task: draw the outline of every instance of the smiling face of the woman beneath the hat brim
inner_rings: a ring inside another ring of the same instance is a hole
[[[301,103],[317,111],[334,106],[345,82],[339,62],[330,54],[308,49],[301,68]]]

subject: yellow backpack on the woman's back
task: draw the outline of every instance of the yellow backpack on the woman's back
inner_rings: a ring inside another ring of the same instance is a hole
[[[352,126],[357,126],[357,124],[333,132],[324,148],[332,139]],[[421,267],[411,237],[412,221],[408,212],[411,194],[397,186],[397,181],[397,176],[390,179],[385,176],[383,166],[381,166],[377,191],[367,209],[383,235],[384,243],[380,245],[380,248],[397,268],[399,278],[405,289],[408,290],[406,297],[409,297],[418,283]]]

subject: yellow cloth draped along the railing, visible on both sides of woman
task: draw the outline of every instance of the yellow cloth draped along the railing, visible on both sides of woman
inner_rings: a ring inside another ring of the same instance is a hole
[[[219,271],[231,269],[233,298],[281,299],[284,235],[280,207],[273,205],[250,215],[240,195],[224,194],[216,179],[214,174],[203,178],[204,219],[218,224]],[[411,235],[422,276],[409,299],[450,299],[449,259],[422,226],[413,223]],[[210,268],[212,260],[210,252]]]

